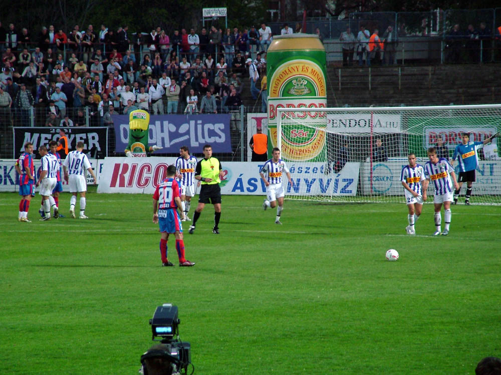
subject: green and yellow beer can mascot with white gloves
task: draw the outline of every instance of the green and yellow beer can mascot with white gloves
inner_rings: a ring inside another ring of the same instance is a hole
[[[157,145],[148,147],[148,128],[150,126],[150,114],[143,110],[133,110],[129,114],[129,144],[125,149],[125,154],[132,156],[146,156],[146,152],[153,152],[159,147]]]

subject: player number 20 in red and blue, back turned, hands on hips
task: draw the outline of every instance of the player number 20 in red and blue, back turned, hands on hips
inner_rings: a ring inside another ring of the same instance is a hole
[[[160,254],[163,266],[173,266],[167,258],[167,239],[169,234],[174,233],[176,237],[176,250],[179,257],[179,266],[189,267],[195,263],[186,260],[184,257],[183,227],[181,219],[184,212],[181,207],[179,185],[174,179],[176,175],[175,165],[167,167],[167,177],[161,181],[153,193],[153,222],[160,226]],[[181,219],[177,209],[181,209]]]

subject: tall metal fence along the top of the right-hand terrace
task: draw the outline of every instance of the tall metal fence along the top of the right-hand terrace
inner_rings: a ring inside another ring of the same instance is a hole
[[[275,35],[285,22],[270,24]],[[289,25],[293,22],[287,22]],[[459,34],[452,36],[455,24]],[[470,29],[468,29],[468,26]],[[341,32],[350,27],[354,36],[360,26],[369,31],[396,30],[398,63],[455,63],[501,61],[501,8],[448,9],[423,12],[353,12],[345,19],[317,18],[306,22],[304,32],[319,28],[324,38],[329,62],[342,60]],[[451,43],[451,39],[456,43]]]

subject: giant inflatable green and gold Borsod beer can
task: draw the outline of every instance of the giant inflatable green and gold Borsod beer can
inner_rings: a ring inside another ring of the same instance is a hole
[[[272,146],[277,144],[277,109],[308,108],[309,112],[282,113],[281,156],[293,161],[318,160],[325,147],[321,128],[327,125],[327,114],[311,110],[327,106],[324,45],[315,34],[274,36],[266,60]]]

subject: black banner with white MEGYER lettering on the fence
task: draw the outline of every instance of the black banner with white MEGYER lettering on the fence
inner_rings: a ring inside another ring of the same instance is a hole
[[[14,154],[13,157],[18,157],[25,151],[24,144],[26,142],[33,143],[34,153],[38,155],[38,147],[45,145],[51,140],[59,140],[59,130],[64,129],[68,137],[68,148],[74,150],[77,147],[77,142],[84,142],[85,152],[91,151],[101,156],[108,154],[108,128],[107,127],[14,127]],[[123,151],[122,151],[123,152]]]

